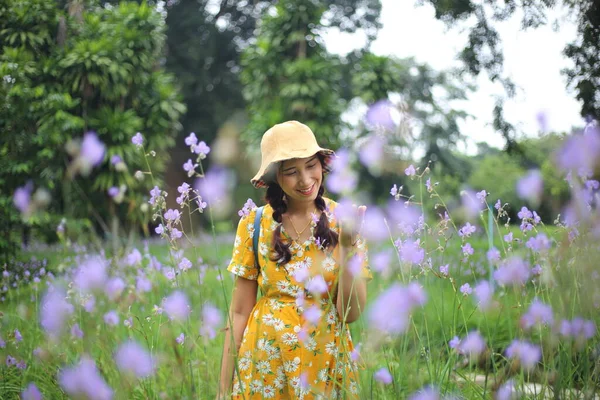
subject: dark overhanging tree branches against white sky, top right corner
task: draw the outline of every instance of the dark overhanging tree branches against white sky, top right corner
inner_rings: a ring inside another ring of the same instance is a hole
[[[495,22],[504,21],[517,12],[522,15],[523,29],[535,29],[548,23],[547,12],[554,6],[564,5],[577,19],[578,37],[565,49],[574,67],[565,70],[568,85],[573,86],[582,101],[581,114],[586,118],[600,118],[600,1],[598,0],[419,0],[435,9],[436,18],[448,25],[474,20],[468,42],[459,54],[467,71],[472,75],[486,71],[493,81],[501,82],[508,94],[514,95],[514,85],[503,75],[504,58]],[[515,128],[503,117],[502,101],[494,109],[494,127],[507,141],[509,150],[516,149]]]

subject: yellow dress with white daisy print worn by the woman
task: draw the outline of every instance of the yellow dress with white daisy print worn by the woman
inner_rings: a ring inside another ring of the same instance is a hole
[[[330,228],[339,233],[333,215],[337,203],[330,199],[325,202]],[[244,330],[237,360],[241,379],[234,372],[232,398],[357,398],[357,357],[348,326],[342,325],[333,302],[339,246],[333,251],[323,250],[314,238],[299,245],[282,227],[282,239],[292,243],[292,259],[285,265],[271,261],[271,240],[278,223],[273,219],[273,209],[266,205],[257,268],[252,249],[255,216],[256,209],[241,218],[227,268],[235,275],[258,280],[262,293]],[[366,244],[359,240],[357,246],[360,273],[371,279]],[[300,269],[308,271],[309,276],[300,278],[296,274]],[[305,284],[315,277],[327,284],[328,290],[322,296],[313,296],[305,289]],[[318,322],[313,317],[305,318],[307,310],[313,316],[320,315]]]

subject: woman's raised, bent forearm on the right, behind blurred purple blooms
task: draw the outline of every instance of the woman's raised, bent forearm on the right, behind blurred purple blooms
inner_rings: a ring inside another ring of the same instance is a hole
[[[338,292],[336,308],[342,321],[352,323],[356,321],[365,309],[367,303],[367,281],[360,276],[352,276],[348,268],[349,255],[352,247],[340,246],[342,265],[338,278]],[[357,274],[360,275],[360,274]]]

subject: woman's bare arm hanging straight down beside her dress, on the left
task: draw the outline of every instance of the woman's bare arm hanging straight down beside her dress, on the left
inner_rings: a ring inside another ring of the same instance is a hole
[[[221,360],[221,379],[219,381],[217,398],[227,398],[231,392],[236,357],[242,343],[242,336],[244,329],[246,329],[248,318],[256,304],[257,291],[257,281],[242,277],[236,278],[229,310],[229,319],[225,330],[225,343],[223,344],[223,358]],[[233,323],[233,329],[231,329],[231,323]]]

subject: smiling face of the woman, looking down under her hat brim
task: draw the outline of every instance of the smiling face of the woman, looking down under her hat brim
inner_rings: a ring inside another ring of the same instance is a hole
[[[284,161],[277,172],[277,183],[289,201],[309,202],[317,198],[323,181],[323,167],[317,155]]]

